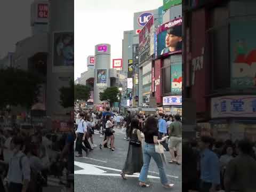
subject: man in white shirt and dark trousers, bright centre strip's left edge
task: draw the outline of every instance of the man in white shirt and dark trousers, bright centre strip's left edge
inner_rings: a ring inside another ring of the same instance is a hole
[[[76,150],[78,155],[76,157],[83,157],[82,149],[85,150],[86,156],[88,154],[88,149],[83,146],[83,141],[86,139],[85,135],[87,132],[87,125],[83,119],[84,113],[79,113],[79,121],[77,125],[77,139],[76,139]]]

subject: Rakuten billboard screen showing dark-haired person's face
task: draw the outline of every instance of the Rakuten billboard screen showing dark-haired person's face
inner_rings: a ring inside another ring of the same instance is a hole
[[[182,18],[164,23],[157,29],[157,57],[182,52]]]

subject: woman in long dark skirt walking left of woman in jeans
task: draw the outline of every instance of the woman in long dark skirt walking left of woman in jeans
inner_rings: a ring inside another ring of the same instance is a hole
[[[139,123],[139,119],[132,119],[131,129],[129,130],[129,149],[123,170],[120,173],[123,179],[127,179],[125,174],[139,173],[143,165]]]

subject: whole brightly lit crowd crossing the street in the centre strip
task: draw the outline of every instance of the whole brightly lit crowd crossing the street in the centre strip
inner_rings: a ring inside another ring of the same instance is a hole
[[[126,160],[121,174],[123,179],[126,175],[140,173],[139,185],[149,187],[147,175],[150,159],[153,158],[159,170],[159,177],[164,188],[171,188],[166,172],[166,157],[164,151],[169,151],[170,164],[181,165],[182,148],[182,123],[180,115],[143,115],[131,114],[127,111],[126,116],[115,114],[106,108],[103,113],[86,113],[82,110],[76,114],[76,157],[86,156],[93,148],[94,130],[99,130],[102,142],[99,148],[109,148],[115,151],[115,129],[125,130],[125,140],[129,141]],[[89,140],[90,139],[90,140]],[[109,143],[110,140],[110,143]],[[91,141],[91,142],[90,142]],[[109,143],[109,144],[108,144]]]

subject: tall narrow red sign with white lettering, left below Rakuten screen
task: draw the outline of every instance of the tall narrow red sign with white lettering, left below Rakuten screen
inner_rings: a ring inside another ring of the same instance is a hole
[[[155,61],[155,98],[156,98],[156,103],[161,103],[162,102],[162,86],[161,86],[161,67],[162,67],[162,62],[160,59]]]

